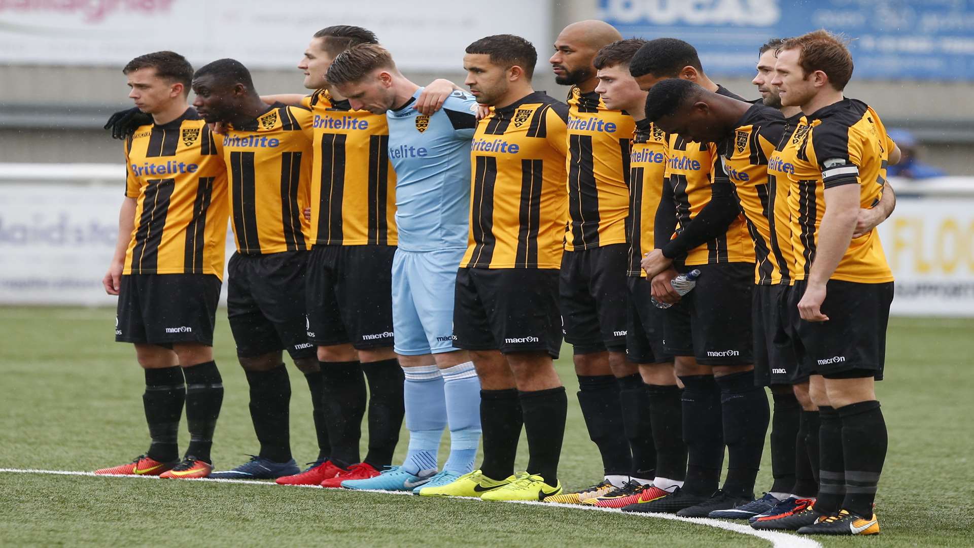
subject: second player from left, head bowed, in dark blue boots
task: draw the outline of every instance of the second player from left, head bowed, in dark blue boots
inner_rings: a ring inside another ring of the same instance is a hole
[[[291,457],[291,386],[281,362],[286,349],[301,372],[318,371],[305,334],[305,269],[310,226],[312,115],[268,106],[250,72],[218,59],[193,76],[194,106],[206,122],[228,125],[223,160],[230,179],[237,253],[230,257],[227,316],[250,386],[250,418],[260,451],[216,478],[276,479],[298,473]]]

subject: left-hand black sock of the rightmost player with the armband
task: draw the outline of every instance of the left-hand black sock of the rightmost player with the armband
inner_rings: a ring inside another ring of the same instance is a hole
[[[843,419],[829,406],[818,408],[818,498],[815,510],[831,516],[839,512],[845,498]]]

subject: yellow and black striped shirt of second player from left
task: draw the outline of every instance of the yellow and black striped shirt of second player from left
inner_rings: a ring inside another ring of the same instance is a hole
[[[312,113],[276,103],[223,137],[230,204],[242,254],[311,248]]]

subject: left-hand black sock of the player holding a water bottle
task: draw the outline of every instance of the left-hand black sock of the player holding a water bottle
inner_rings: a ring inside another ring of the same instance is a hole
[[[683,489],[710,496],[717,490],[724,464],[721,390],[712,374],[686,375],[680,380],[684,385],[683,440],[687,444],[687,480]]]

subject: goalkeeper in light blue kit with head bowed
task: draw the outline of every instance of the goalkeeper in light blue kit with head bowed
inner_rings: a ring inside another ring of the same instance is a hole
[[[454,345],[457,267],[467,249],[470,138],[474,99],[454,92],[432,115],[413,104],[423,88],[396,68],[382,46],[360,44],[339,54],[326,79],[353,108],[385,113],[395,170],[393,257],[395,352],[405,374],[409,451],[402,466],[380,476],[346,480],[349,489],[419,492],[473,470],[480,443],[480,383],[468,351]],[[450,456],[436,472],[443,428]]]

